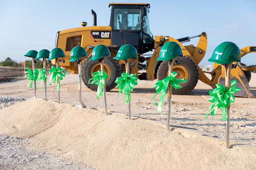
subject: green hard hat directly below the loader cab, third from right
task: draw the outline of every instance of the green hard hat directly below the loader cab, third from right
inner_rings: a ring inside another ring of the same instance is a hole
[[[123,45],[117,52],[116,57],[114,59],[117,60],[125,60],[129,58],[138,59],[137,50],[130,44]]]

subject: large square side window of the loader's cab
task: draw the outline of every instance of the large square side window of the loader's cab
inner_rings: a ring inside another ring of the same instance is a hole
[[[140,30],[140,9],[114,8],[114,30]]]

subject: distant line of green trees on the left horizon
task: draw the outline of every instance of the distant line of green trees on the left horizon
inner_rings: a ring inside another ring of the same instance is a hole
[[[48,63],[46,63],[46,66]],[[50,63],[49,68],[52,67],[52,63]],[[21,63],[17,63],[15,60],[12,60],[11,58],[7,57],[4,61],[0,62],[0,66],[8,66],[8,67],[18,67],[21,66]],[[25,61],[25,66],[31,68],[32,67],[32,59]],[[36,61],[35,68],[43,68],[43,60]]]

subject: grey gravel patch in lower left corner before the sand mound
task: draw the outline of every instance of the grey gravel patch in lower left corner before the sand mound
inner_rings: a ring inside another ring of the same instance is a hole
[[[28,148],[29,139],[0,135],[0,169],[84,169],[95,170],[90,166],[79,165],[66,161],[64,158],[51,153]]]

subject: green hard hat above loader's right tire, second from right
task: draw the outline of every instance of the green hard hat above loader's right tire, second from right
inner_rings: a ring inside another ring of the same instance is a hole
[[[177,42],[168,41],[161,48],[159,57],[156,60],[168,61],[178,56],[183,56],[180,45]]]

